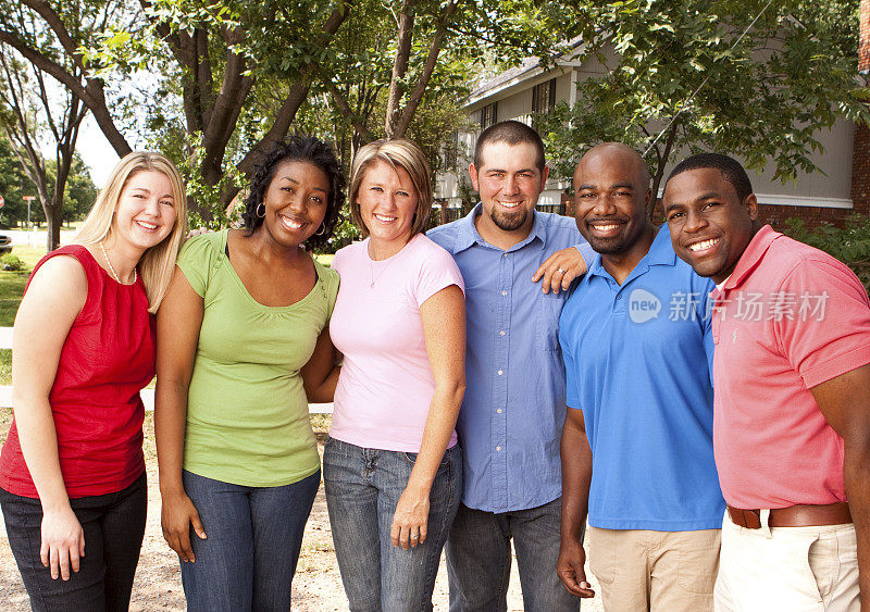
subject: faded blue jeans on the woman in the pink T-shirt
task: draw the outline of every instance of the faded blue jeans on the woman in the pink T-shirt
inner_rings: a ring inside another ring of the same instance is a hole
[[[323,483],[341,583],[352,612],[432,610],[442,549],[462,491],[459,446],[444,453],[430,491],[426,541],[393,546],[389,528],[417,454],[330,438]]]

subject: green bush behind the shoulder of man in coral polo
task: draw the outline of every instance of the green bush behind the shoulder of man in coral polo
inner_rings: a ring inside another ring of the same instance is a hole
[[[870,217],[853,214],[841,227],[822,223],[808,229],[804,220],[790,218],[785,234],[847,264],[870,291]]]

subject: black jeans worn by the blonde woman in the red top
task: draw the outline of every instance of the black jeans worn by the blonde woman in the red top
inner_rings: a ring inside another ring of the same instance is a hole
[[[148,508],[145,474],[114,494],[70,500],[85,533],[85,557],[70,579],[51,579],[39,559],[42,505],[0,489],[7,535],[35,611],[117,612],[129,608]]]

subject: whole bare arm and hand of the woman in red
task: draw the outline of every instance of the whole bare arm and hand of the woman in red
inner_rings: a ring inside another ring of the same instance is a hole
[[[58,433],[48,397],[66,335],[85,305],[88,282],[82,265],[57,257],[37,271],[15,316],[12,407],[24,462],[42,504],[42,565],[51,577],[70,579],[85,555],[85,534],[61,474]]]

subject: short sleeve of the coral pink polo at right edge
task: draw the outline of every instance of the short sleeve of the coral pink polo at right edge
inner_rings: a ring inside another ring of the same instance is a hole
[[[870,303],[858,277],[830,258],[801,259],[776,292],[781,350],[807,388],[870,363]]]

